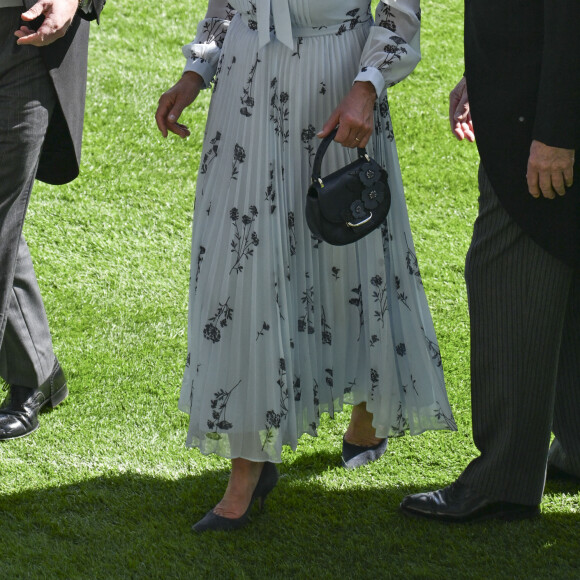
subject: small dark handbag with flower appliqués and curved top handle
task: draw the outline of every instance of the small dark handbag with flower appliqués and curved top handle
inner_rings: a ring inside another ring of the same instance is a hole
[[[387,172],[358,148],[358,159],[320,177],[322,158],[338,128],[318,147],[312,167],[312,183],[306,196],[306,223],[310,231],[333,246],[360,240],[378,228],[391,207]]]

